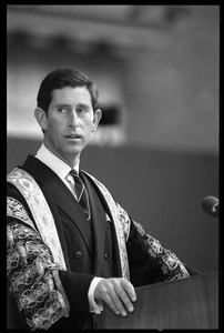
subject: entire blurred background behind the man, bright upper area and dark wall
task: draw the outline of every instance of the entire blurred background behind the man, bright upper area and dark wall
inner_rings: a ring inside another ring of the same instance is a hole
[[[220,6],[8,6],[8,172],[42,140],[42,79],[84,71],[103,118],[81,168],[163,246],[218,269]]]

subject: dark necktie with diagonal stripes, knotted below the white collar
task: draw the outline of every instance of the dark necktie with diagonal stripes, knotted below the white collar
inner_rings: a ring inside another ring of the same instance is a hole
[[[90,203],[89,203],[89,195],[85,189],[85,185],[79,174],[72,169],[70,174],[73,176],[74,184],[75,184],[75,193],[77,200],[79,201],[88,221],[90,221],[91,213],[90,213]]]

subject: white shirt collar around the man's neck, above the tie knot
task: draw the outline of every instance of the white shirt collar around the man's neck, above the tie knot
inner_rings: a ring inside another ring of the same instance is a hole
[[[43,162],[45,165],[48,165],[62,180],[68,175],[68,173],[71,170],[71,167],[69,167],[61,159],[59,159],[52,152],[50,152],[50,150],[48,150],[43,143],[38,150],[35,158]],[[79,162],[73,169],[79,173]]]

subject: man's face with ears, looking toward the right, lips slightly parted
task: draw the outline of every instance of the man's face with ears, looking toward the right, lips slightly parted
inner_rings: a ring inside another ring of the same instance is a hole
[[[85,87],[64,87],[52,91],[45,119],[44,114],[41,125],[45,130],[44,144],[73,167],[96,129],[101,111],[93,113],[91,95]]]

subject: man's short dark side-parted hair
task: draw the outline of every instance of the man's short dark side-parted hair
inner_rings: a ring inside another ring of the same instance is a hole
[[[38,107],[48,113],[48,108],[52,99],[52,90],[62,89],[64,87],[86,87],[91,95],[93,111],[98,109],[99,92],[95,84],[91,82],[84,73],[64,68],[50,72],[43,79],[38,92]]]

